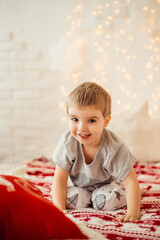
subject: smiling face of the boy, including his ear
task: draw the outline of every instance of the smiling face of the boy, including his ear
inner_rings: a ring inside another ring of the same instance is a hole
[[[81,144],[98,147],[103,128],[109,123],[102,112],[93,107],[70,106],[68,108],[69,130]]]

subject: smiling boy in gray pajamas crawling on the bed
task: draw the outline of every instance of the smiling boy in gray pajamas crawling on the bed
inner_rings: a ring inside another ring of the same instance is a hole
[[[135,158],[106,129],[111,120],[109,93],[84,82],[70,93],[66,109],[69,131],[53,154],[53,203],[63,212],[90,206],[112,211],[127,204],[127,214],[118,220],[138,221],[141,190],[133,170]]]

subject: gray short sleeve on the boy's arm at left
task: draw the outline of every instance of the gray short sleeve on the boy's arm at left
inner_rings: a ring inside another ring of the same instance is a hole
[[[65,138],[62,136],[60,139],[57,148],[52,154],[53,162],[60,168],[65,171],[69,171],[72,166],[72,162],[69,161],[66,146],[65,146]]]

